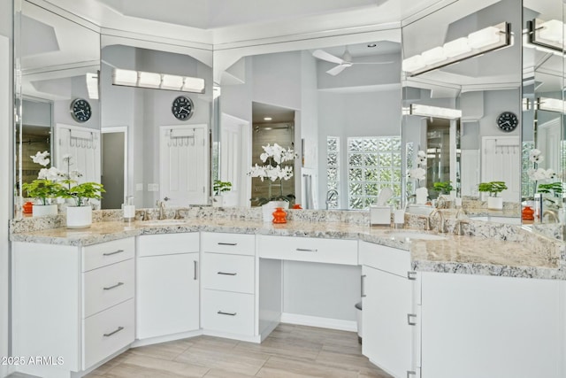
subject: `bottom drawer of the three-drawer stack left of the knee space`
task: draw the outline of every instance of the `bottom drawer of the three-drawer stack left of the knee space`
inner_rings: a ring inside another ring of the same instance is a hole
[[[237,335],[254,335],[254,296],[204,290],[203,328]]]

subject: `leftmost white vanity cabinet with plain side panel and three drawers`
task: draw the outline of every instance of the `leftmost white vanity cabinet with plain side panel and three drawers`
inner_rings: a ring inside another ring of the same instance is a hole
[[[134,342],[134,238],[11,246],[13,355],[53,359],[18,371],[69,377]]]

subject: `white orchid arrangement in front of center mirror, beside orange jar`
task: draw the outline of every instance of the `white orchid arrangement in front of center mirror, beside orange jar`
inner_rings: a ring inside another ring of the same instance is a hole
[[[279,195],[270,198],[255,197],[251,198],[251,201],[262,206],[264,221],[271,221],[272,212],[277,207],[288,209],[289,202],[294,200],[292,193],[283,194],[283,180],[287,181],[293,177],[293,162],[297,158],[297,154],[294,150],[290,148],[286,150],[277,143],[273,143],[272,146],[267,144],[262,146],[262,148],[264,153],[259,158],[264,162],[264,166],[258,166],[257,164],[252,166],[248,174],[251,177],[259,177],[261,181],[264,181],[264,179],[269,179],[273,182],[279,181]],[[287,161],[290,163],[284,165],[283,163]]]

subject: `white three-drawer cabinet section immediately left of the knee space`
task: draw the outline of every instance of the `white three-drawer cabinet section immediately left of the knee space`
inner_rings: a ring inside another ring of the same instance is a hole
[[[203,329],[231,338],[256,335],[256,236],[201,234]]]

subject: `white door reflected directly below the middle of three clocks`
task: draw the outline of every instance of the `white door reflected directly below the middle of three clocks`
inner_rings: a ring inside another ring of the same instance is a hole
[[[208,127],[162,126],[159,131],[160,198],[171,206],[207,204]]]

